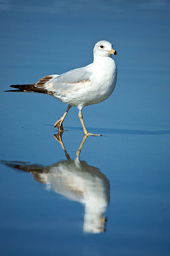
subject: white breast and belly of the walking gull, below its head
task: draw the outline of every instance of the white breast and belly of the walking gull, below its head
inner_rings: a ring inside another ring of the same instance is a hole
[[[70,85],[65,95],[55,97],[79,110],[84,106],[106,100],[116,86],[116,64],[110,57],[97,57],[90,68],[92,75],[88,81]]]

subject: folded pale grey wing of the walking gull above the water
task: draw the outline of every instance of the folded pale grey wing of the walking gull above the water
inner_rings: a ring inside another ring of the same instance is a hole
[[[61,75],[52,75],[44,88],[60,96],[65,96],[69,92],[81,89],[82,84],[90,83],[92,75],[91,64],[79,69],[73,69]]]

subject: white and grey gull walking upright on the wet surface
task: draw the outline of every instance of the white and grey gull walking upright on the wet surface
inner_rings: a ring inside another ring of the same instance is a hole
[[[94,61],[86,67],[73,69],[60,75],[48,75],[35,84],[10,85],[19,90],[5,92],[39,92],[52,95],[68,105],[66,112],[54,124],[58,131],[64,131],[63,120],[69,109],[77,107],[84,134],[101,136],[86,130],[81,110],[85,106],[106,100],[114,91],[117,82],[117,65],[111,57],[112,54],[118,55],[112,48],[112,44],[109,41],[99,41],[94,46]]]

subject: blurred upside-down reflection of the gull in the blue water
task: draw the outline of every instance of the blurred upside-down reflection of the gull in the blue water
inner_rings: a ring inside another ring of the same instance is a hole
[[[48,166],[17,161],[2,162],[15,169],[30,172],[36,181],[46,184],[47,188],[53,189],[70,200],[83,203],[85,232],[105,231],[107,219],[103,217],[103,213],[110,201],[110,184],[98,168],[79,160],[79,154],[87,136],[84,136],[75,160],[70,159],[64,147],[62,132],[55,134],[54,138],[61,144],[67,160]]]

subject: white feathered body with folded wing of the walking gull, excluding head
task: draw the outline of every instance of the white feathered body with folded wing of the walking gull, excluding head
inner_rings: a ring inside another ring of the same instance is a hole
[[[52,75],[53,78],[46,82],[45,88],[53,91],[53,97],[79,110],[84,106],[106,100],[116,86],[117,66],[111,57],[96,57],[92,64],[71,70],[71,72],[74,77],[78,72],[82,72],[84,78],[81,79],[82,81],[70,82],[70,77],[69,81],[66,79],[67,73],[65,76],[64,74]],[[69,76],[71,72],[68,72]]]

